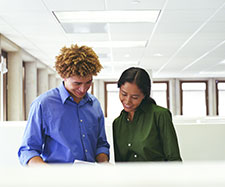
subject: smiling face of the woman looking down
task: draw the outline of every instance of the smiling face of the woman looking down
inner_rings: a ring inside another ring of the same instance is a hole
[[[145,96],[135,83],[125,82],[120,87],[119,97],[124,110],[132,113],[140,105]]]

